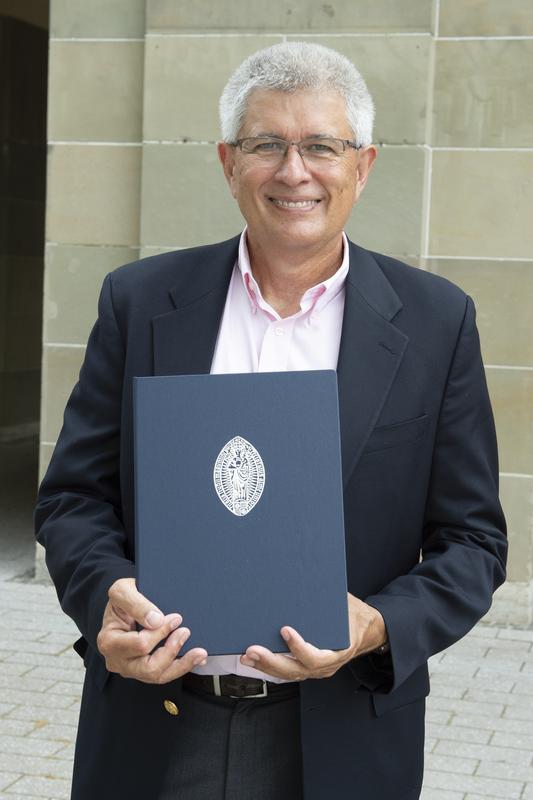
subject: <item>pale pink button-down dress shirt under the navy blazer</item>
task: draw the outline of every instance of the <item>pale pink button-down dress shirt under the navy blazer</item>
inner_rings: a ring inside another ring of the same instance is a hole
[[[305,292],[296,314],[281,318],[261,295],[250,267],[246,229],[243,231],[211,374],[337,368],[344,314],[344,283],[348,273],[348,242],[346,236],[342,236],[344,254],[337,272]],[[205,666],[195,667],[193,671],[202,675],[246,675],[283,682],[244,666],[239,655],[209,656]]]

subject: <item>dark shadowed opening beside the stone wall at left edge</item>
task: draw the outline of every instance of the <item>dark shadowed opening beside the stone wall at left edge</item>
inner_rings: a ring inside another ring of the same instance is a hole
[[[0,578],[30,570],[35,550],[47,26],[47,3],[0,0]]]

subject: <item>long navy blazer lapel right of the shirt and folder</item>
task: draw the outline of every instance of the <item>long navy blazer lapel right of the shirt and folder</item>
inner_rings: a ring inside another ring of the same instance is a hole
[[[402,303],[373,256],[350,242],[337,365],[342,472],[348,483],[392,386],[408,337],[390,320]]]

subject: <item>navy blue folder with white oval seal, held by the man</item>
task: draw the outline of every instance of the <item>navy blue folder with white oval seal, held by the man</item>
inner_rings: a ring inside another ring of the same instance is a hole
[[[333,370],[134,379],[137,586],[182,653],[349,645]]]

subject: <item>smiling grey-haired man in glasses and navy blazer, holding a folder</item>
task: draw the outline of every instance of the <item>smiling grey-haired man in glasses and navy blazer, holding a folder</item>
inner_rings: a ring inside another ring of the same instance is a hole
[[[36,511],[87,667],[76,800],[419,797],[427,659],[489,608],[505,523],[472,301],[343,234],[372,119],[339,54],[251,56],[224,90],[218,146],[245,232],[104,282]],[[132,377],[332,367],[350,647],[284,627],[291,656],[250,642],[180,657],[179,609],[163,617],[135,588]]]

